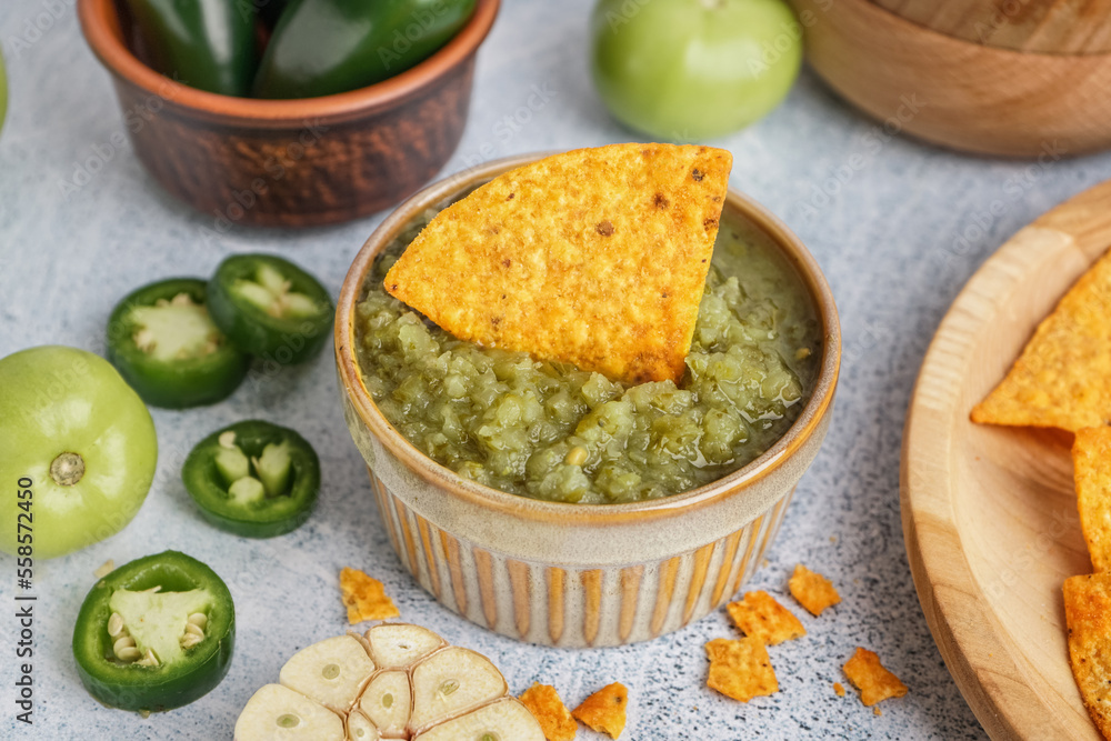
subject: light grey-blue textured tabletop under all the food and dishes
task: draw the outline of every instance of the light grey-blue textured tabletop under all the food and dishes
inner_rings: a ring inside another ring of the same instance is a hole
[[[80,38],[72,0],[2,4],[12,100],[0,134],[0,356],[44,343],[102,352],[119,298],[160,278],[208,276],[232,252],[279,252],[338,291],[381,214],[332,229],[236,229],[206,240],[201,230],[212,228],[213,217],[171,200],[128,147],[113,144],[124,127],[108,74]],[[491,157],[634,137],[608,118],[591,89],[588,8],[587,0],[508,0],[480,54],[471,118],[444,173]],[[527,108],[533,86],[550,97],[539,110]],[[507,117],[516,117],[513,126]],[[624,682],[630,710],[622,739],[984,738],[934,647],[907,565],[898,491],[904,410],[929,339],[967,278],[1024,223],[1111,176],[1111,156],[1040,167],[889,138],[809,72],[772,116],[714,143],[735,157],[732,186],[785,219],[813,251],[844,331],[833,427],[769,564],[751,584],[785,594],[787,575],[802,561],[832,578],[843,602],[812,619],[784,598],[809,634],[772,649],[778,694],[741,704],[705,689],[703,642],[734,633],[723,612],[651,643],[575,652],[522,645],[441,609],[410,580],[379,527],[343,424],[329,349],[307,368],[249,380],[224,403],[153,412],[161,459],[134,522],[106,542],[37,564],[30,728],[13,720],[14,562],[0,557],[0,614],[8,615],[0,618],[0,737],[230,738],[243,703],[277,679],[290,654],[346,630],[336,575],[354,565],[386,582],[404,619],[487,653],[513,692],[540,680],[572,704],[608,681]],[[81,167],[97,171],[64,192]],[[254,417],[297,428],[323,463],[319,510],[301,530],[273,540],[211,529],[178,478],[200,438]],[[93,569],[166,548],[208,562],[228,582],[238,605],[236,658],[218,691],[143,720],[84,693],[70,632]],[[875,650],[910,687],[905,698],[883,704],[881,717],[852,689],[838,699],[831,688],[848,684],[840,667],[858,644]],[[602,737],[582,730],[580,738]]]

